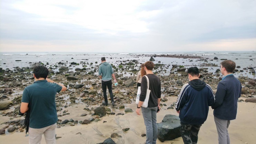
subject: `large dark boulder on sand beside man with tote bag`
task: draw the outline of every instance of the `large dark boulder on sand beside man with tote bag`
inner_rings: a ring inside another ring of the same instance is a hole
[[[180,137],[180,119],[176,115],[165,115],[162,122],[157,123],[157,138],[161,142]]]

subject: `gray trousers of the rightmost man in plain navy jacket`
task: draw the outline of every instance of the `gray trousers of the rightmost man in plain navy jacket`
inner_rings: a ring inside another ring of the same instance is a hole
[[[217,127],[219,144],[230,144],[228,135],[230,120],[221,120],[214,116],[214,121]]]

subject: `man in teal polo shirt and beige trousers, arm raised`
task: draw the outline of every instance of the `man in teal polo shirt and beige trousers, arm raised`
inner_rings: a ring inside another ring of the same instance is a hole
[[[67,88],[47,78],[48,69],[36,66],[33,70],[35,82],[27,86],[22,94],[20,112],[30,111],[29,143],[41,142],[42,134],[47,144],[55,144],[55,128],[57,127],[57,111],[55,95]]]

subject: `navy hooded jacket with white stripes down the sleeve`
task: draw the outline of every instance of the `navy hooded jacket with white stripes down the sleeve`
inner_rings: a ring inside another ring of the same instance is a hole
[[[180,122],[185,124],[203,124],[208,115],[209,106],[214,104],[214,94],[210,85],[194,79],[181,88],[175,109],[179,112]]]

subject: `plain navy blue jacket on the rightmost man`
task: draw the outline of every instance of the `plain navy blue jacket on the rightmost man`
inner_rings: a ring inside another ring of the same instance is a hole
[[[215,103],[211,106],[213,115],[221,120],[234,120],[237,100],[241,96],[242,85],[234,75],[228,75],[218,83]]]

